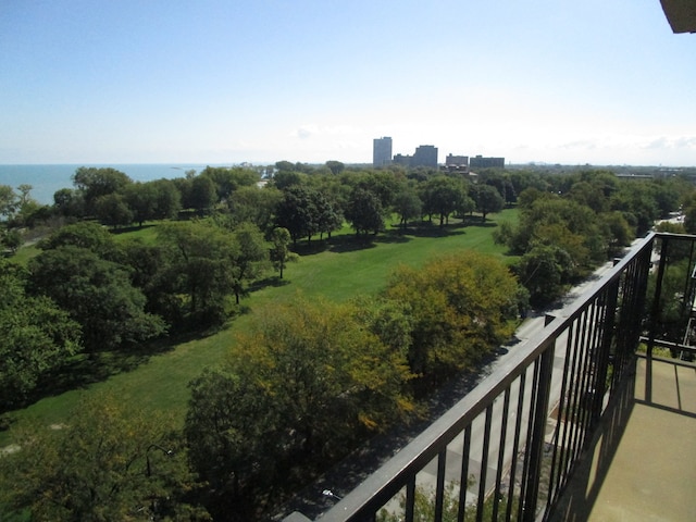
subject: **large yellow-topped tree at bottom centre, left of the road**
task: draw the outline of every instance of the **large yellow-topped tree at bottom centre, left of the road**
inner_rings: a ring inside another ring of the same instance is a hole
[[[249,508],[411,411],[403,352],[358,316],[321,300],[271,306],[222,370],[194,383],[185,433],[195,469],[221,497]]]

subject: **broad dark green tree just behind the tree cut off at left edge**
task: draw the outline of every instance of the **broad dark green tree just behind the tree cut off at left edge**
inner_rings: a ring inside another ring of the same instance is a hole
[[[161,318],[144,311],[126,266],[75,246],[46,250],[29,262],[34,295],[53,299],[83,330],[88,350],[140,343],[165,332]]]

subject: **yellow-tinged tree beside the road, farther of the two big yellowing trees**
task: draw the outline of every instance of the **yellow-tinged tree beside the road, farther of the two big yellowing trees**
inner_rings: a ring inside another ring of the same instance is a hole
[[[411,371],[427,384],[473,368],[512,334],[517,286],[502,263],[474,251],[397,269],[384,298],[408,307]]]

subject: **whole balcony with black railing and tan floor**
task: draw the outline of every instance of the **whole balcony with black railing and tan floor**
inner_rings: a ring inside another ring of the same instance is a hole
[[[696,237],[649,235],[376,472],[284,522],[696,520],[695,264]]]

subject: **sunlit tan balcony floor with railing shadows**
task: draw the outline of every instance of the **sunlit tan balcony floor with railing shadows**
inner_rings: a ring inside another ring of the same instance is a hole
[[[551,520],[696,520],[696,369],[641,358],[631,387]]]

